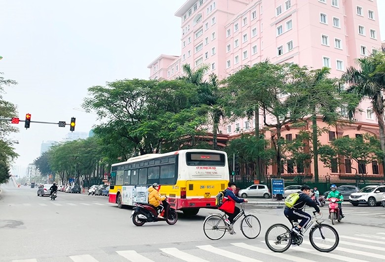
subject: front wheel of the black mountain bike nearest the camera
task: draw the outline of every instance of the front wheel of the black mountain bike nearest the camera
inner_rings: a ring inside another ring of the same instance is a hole
[[[328,224],[319,224],[311,228],[309,233],[310,244],[320,252],[331,252],[340,242],[337,230]]]

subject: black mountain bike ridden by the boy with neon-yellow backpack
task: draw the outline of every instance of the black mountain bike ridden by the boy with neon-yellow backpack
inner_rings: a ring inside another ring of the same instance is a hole
[[[338,246],[340,236],[333,226],[319,221],[315,213],[316,211],[313,212],[313,216],[308,224],[302,228],[302,233],[305,234],[311,225],[315,223],[309,232],[310,244],[320,252],[331,252]],[[290,221],[290,223],[294,227],[293,221]],[[266,245],[274,252],[285,252],[292,243],[301,245],[303,240],[302,236],[297,235],[293,232],[293,229],[289,229],[285,224],[273,224],[265,234]]]

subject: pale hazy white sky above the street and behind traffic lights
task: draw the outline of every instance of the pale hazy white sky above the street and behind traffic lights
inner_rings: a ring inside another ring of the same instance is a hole
[[[18,82],[4,99],[32,121],[70,122],[88,132],[96,116],[80,108],[87,88],[124,78],[148,79],[160,54],[181,54],[180,18],[186,0],[0,0],[0,72]],[[378,0],[385,40],[385,0]],[[380,11],[381,10],[381,11]],[[14,135],[15,165],[40,155],[42,141],[61,140],[70,128],[31,123]]]

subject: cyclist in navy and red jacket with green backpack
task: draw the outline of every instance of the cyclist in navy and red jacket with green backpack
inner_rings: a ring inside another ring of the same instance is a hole
[[[235,234],[232,224],[234,222],[234,218],[239,214],[240,209],[238,207],[235,207],[236,203],[246,203],[247,199],[245,198],[239,198],[235,196],[234,191],[236,189],[236,185],[234,182],[229,182],[228,188],[225,190],[224,196],[223,196],[223,204],[218,209],[225,212],[225,214],[228,216],[228,218],[225,220],[225,222],[230,227],[230,234]]]

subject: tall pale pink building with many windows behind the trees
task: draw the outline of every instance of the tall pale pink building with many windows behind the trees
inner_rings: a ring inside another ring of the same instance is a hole
[[[331,77],[339,77],[346,67],[355,66],[356,58],[381,49],[376,0],[187,0],[175,15],[181,18],[182,54],[157,57],[148,66],[150,79],[174,79],[183,74],[183,64],[192,68],[208,64],[207,74],[213,72],[223,79],[243,65],[266,59],[314,69],[327,66]],[[363,112],[355,115],[354,125],[339,130],[329,127],[331,132],[336,137],[363,132],[378,135],[370,102],[363,101],[360,108]],[[221,133],[231,138],[252,131],[253,123],[245,119],[224,123]],[[298,131],[285,130],[282,136],[295,137]],[[324,134],[320,140],[327,143],[331,136]],[[373,165],[365,167],[367,173],[382,175],[382,168]],[[322,163],[318,166],[320,177],[350,174],[348,166],[340,165],[337,172]],[[274,167],[267,172],[273,174]],[[288,172],[297,173],[285,165],[284,173]]]

